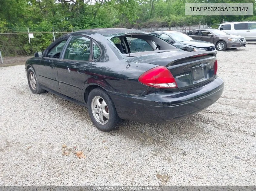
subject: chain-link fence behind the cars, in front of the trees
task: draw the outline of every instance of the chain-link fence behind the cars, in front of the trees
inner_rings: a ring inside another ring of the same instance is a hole
[[[199,28],[218,28],[219,25],[194,25],[194,26],[179,26],[179,27],[161,27],[161,28],[133,28],[145,32],[174,30],[182,33]],[[73,29],[44,31],[43,29],[31,30],[27,29],[14,32],[0,33],[0,51],[2,53],[3,64],[18,64],[32,57],[35,52],[45,50],[55,39],[64,34],[70,33]],[[42,30],[42,32],[36,32]],[[79,30],[79,29],[77,29]],[[33,38],[29,38],[28,34],[33,33]],[[1,64],[1,60],[0,60]]]

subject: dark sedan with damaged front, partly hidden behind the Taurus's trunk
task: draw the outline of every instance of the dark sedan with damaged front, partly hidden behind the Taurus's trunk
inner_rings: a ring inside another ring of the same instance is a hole
[[[161,39],[168,41],[172,45],[188,52],[215,51],[217,53],[214,44],[201,40],[194,40],[184,33],[177,31],[155,31],[151,32],[151,34],[154,34]]]

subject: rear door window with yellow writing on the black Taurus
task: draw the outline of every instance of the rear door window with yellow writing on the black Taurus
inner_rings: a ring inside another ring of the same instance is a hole
[[[64,59],[88,61],[90,53],[90,39],[74,36],[68,43]]]

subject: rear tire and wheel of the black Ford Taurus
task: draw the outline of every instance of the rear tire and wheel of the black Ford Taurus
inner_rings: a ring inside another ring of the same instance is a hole
[[[88,112],[93,124],[101,131],[108,132],[117,129],[120,118],[115,105],[102,88],[93,89],[88,95]]]

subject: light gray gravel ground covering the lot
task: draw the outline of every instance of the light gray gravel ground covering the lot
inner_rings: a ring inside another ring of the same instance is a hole
[[[255,52],[218,52],[225,89],[206,110],[108,133],[86,108],[32,94],[24,65],[0,68],[0,185],[256,185]]]

